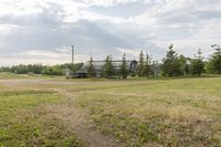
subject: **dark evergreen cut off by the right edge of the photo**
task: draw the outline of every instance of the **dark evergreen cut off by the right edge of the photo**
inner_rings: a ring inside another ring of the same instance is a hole
[[[211,60],[208,63],[208,70],[213,74],[221,74],[221,48],[219,45],[212,45],[215,52],[212,54]]]

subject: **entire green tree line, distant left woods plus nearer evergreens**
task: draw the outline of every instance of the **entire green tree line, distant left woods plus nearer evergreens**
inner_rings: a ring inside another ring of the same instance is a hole
[[[126,55],[123,55],[120,67],[116,69],[113,65],[112,56],[107,56],[102,66],[101,76],[112,78],[127,78],[127,76],[151,77],[151,76],[200,76],[202,74],[221,74],[221,48],[212,45],[213,53],[204,61],[201,52],[198,52],[196,57],[187,57],[178,54],[173,50],[173,45],[169,45],[166,56],[160,63],[154,61],[150,55],[139,53],[136,71],[129,71],[126,62]],[[17,74],[45,74],[45,75],[64,75],[69,69],[72,72],[80,71],[83,63],[66,63],[61,65],[14,65],[2,66],[0,72],[11,72]],[[94,67],[93,59],[90,59],[87,67],[91,77],[97,76],[97,71]]]

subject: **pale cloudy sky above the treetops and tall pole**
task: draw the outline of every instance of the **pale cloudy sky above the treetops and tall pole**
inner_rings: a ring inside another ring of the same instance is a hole
[[[169,44],[203,56],[221,44],[221,0],[0,0],[0,65],[160,61]]]

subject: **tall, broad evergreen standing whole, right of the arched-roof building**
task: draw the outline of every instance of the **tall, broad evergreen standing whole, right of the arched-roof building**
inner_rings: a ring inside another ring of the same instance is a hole
[[[166,57],[162,59],[162,74],[166,76],[178,76],[181,74],[180,62],[176,51],[172,50],[173,45],[169,46]]]

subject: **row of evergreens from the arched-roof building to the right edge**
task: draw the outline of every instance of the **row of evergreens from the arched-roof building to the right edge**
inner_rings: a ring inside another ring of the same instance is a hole
[[[107,56],[102,67],[102,76],[127,78],[128,75],[139,77],[151,76],[200,76],[202,74],[221,74],[221,49],[219,45],[212,45],[214,49],[210,59],[204,61],[201,52],[196,57],[187,57],[173,50],[173,45],[169,45],[166,56],[161,63],[152,61],[149,54],[139,53],[138,66],[136,71],[128,71],[126,64],[126,55],[123,55],[122,65],[117,70],[114,67],[112,57]],[[96,76],[96,69],[93,65],[93,59],[90,60],[88,75]]]

